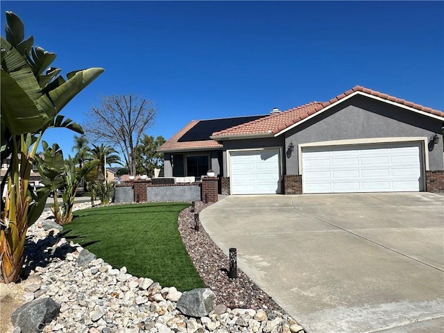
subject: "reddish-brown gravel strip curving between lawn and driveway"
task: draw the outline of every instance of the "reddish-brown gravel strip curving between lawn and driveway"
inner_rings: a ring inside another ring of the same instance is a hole
[[[195,212],[200,212],[209,205],[198,201]],[[223,304],[231,309],[261,309],[266,305],[268,309],[284,313],[284,310],[239,267],[238,278],[228,278],[228,254],[223,253],[219,246],[214,244],[200,223],[199,231],[194,230],[194,212],[191,212],[191,207],[180,212],[178,225],[194,266],[207,288],[212,289],[216,295],[216,304]]]

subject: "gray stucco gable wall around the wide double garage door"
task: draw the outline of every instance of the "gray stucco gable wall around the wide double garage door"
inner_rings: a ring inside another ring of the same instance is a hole
[[[441,121],[365,96],[354,98],[305,121],[285,135],[285,147],[293,142],[286,156],[287,174],[298,175],[298,144],[343,139],[383,137],[428,137],[441,133]],[[429,169],[444,169],[442,136],[429,154]],[[428,150],[428,147],[425,147]]]

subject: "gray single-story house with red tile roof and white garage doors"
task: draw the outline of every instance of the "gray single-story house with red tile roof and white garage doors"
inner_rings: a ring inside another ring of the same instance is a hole
[[[444,191],[444,112],[354,87],[284,112],[191,121],[164,176],[213,169],[222,194]]]

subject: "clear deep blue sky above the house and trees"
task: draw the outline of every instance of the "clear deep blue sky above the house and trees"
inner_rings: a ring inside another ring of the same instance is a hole
[[[53,66],[105,72],[62,110],[82,123],[101,96],[157,105],[146,134],[194,119],[267,114],[355,85],[444,110],[443,1],[1,1]],[[73,154],[74,133],[44,139]]]

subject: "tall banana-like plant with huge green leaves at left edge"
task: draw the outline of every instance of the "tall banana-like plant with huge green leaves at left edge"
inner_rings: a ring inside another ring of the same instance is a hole
[[[6,39],[1,37],[1,162],[12,156],[1,181],[0,280],[15,282],[24,262],[28,226],[44,210],[49,191],[33,193],[29,186],[35,152],[48,128],[65,127],[83,134],[60,110],[100,74],[102,68],[72,71],[67,80],[60,69],[49,67],[55,53],[34,47],[33,36],[24,39],[22,20],[6,12]],[[47,69],[49,67],[49,69]],[[44,71],[46,70],[45,74]]]

